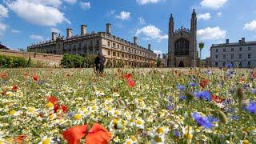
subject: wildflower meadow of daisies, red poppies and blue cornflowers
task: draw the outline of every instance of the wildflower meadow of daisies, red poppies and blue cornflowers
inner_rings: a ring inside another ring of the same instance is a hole
[[[256,143],[253,69],[1,69],[0,143]]]

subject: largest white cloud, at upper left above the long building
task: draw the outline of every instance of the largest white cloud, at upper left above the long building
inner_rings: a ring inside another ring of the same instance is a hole
[[[32,0],[17,0],[7,2],[7,6],[10,8],[10,10],[13,10],[16,14],[18,14],[18,17],[39,26],[56,26],[62,22],[67,22],[69,24],[71,23],[57,8],[46,6],[46,3],[44,3],[45,1],[30,1]],[[41,1],[42,3],[39,3]],[[56,0],[53,2],[55,1]]]

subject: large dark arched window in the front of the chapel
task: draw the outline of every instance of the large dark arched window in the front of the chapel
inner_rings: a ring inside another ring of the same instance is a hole
[[[184,38],[174,43],[174,55],[189,55],[190,42]]]

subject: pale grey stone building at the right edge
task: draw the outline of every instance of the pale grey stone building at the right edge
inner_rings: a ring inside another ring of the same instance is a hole
[[[242,38],[238,42],[214,44],[210,47],[210,61],[212,67],[226,66],[233,64],[236,67],[255,67],[256,66],[256,41],[246,42]]]

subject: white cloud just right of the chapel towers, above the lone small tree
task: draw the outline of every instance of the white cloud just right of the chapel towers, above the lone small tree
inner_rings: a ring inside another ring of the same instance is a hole
[[[198,30],[198,37],[201,40],[206,39],[222,39],[226,37],[226,30],[221,30],[219,26],[217,27],[206,27],[206,29]]]

